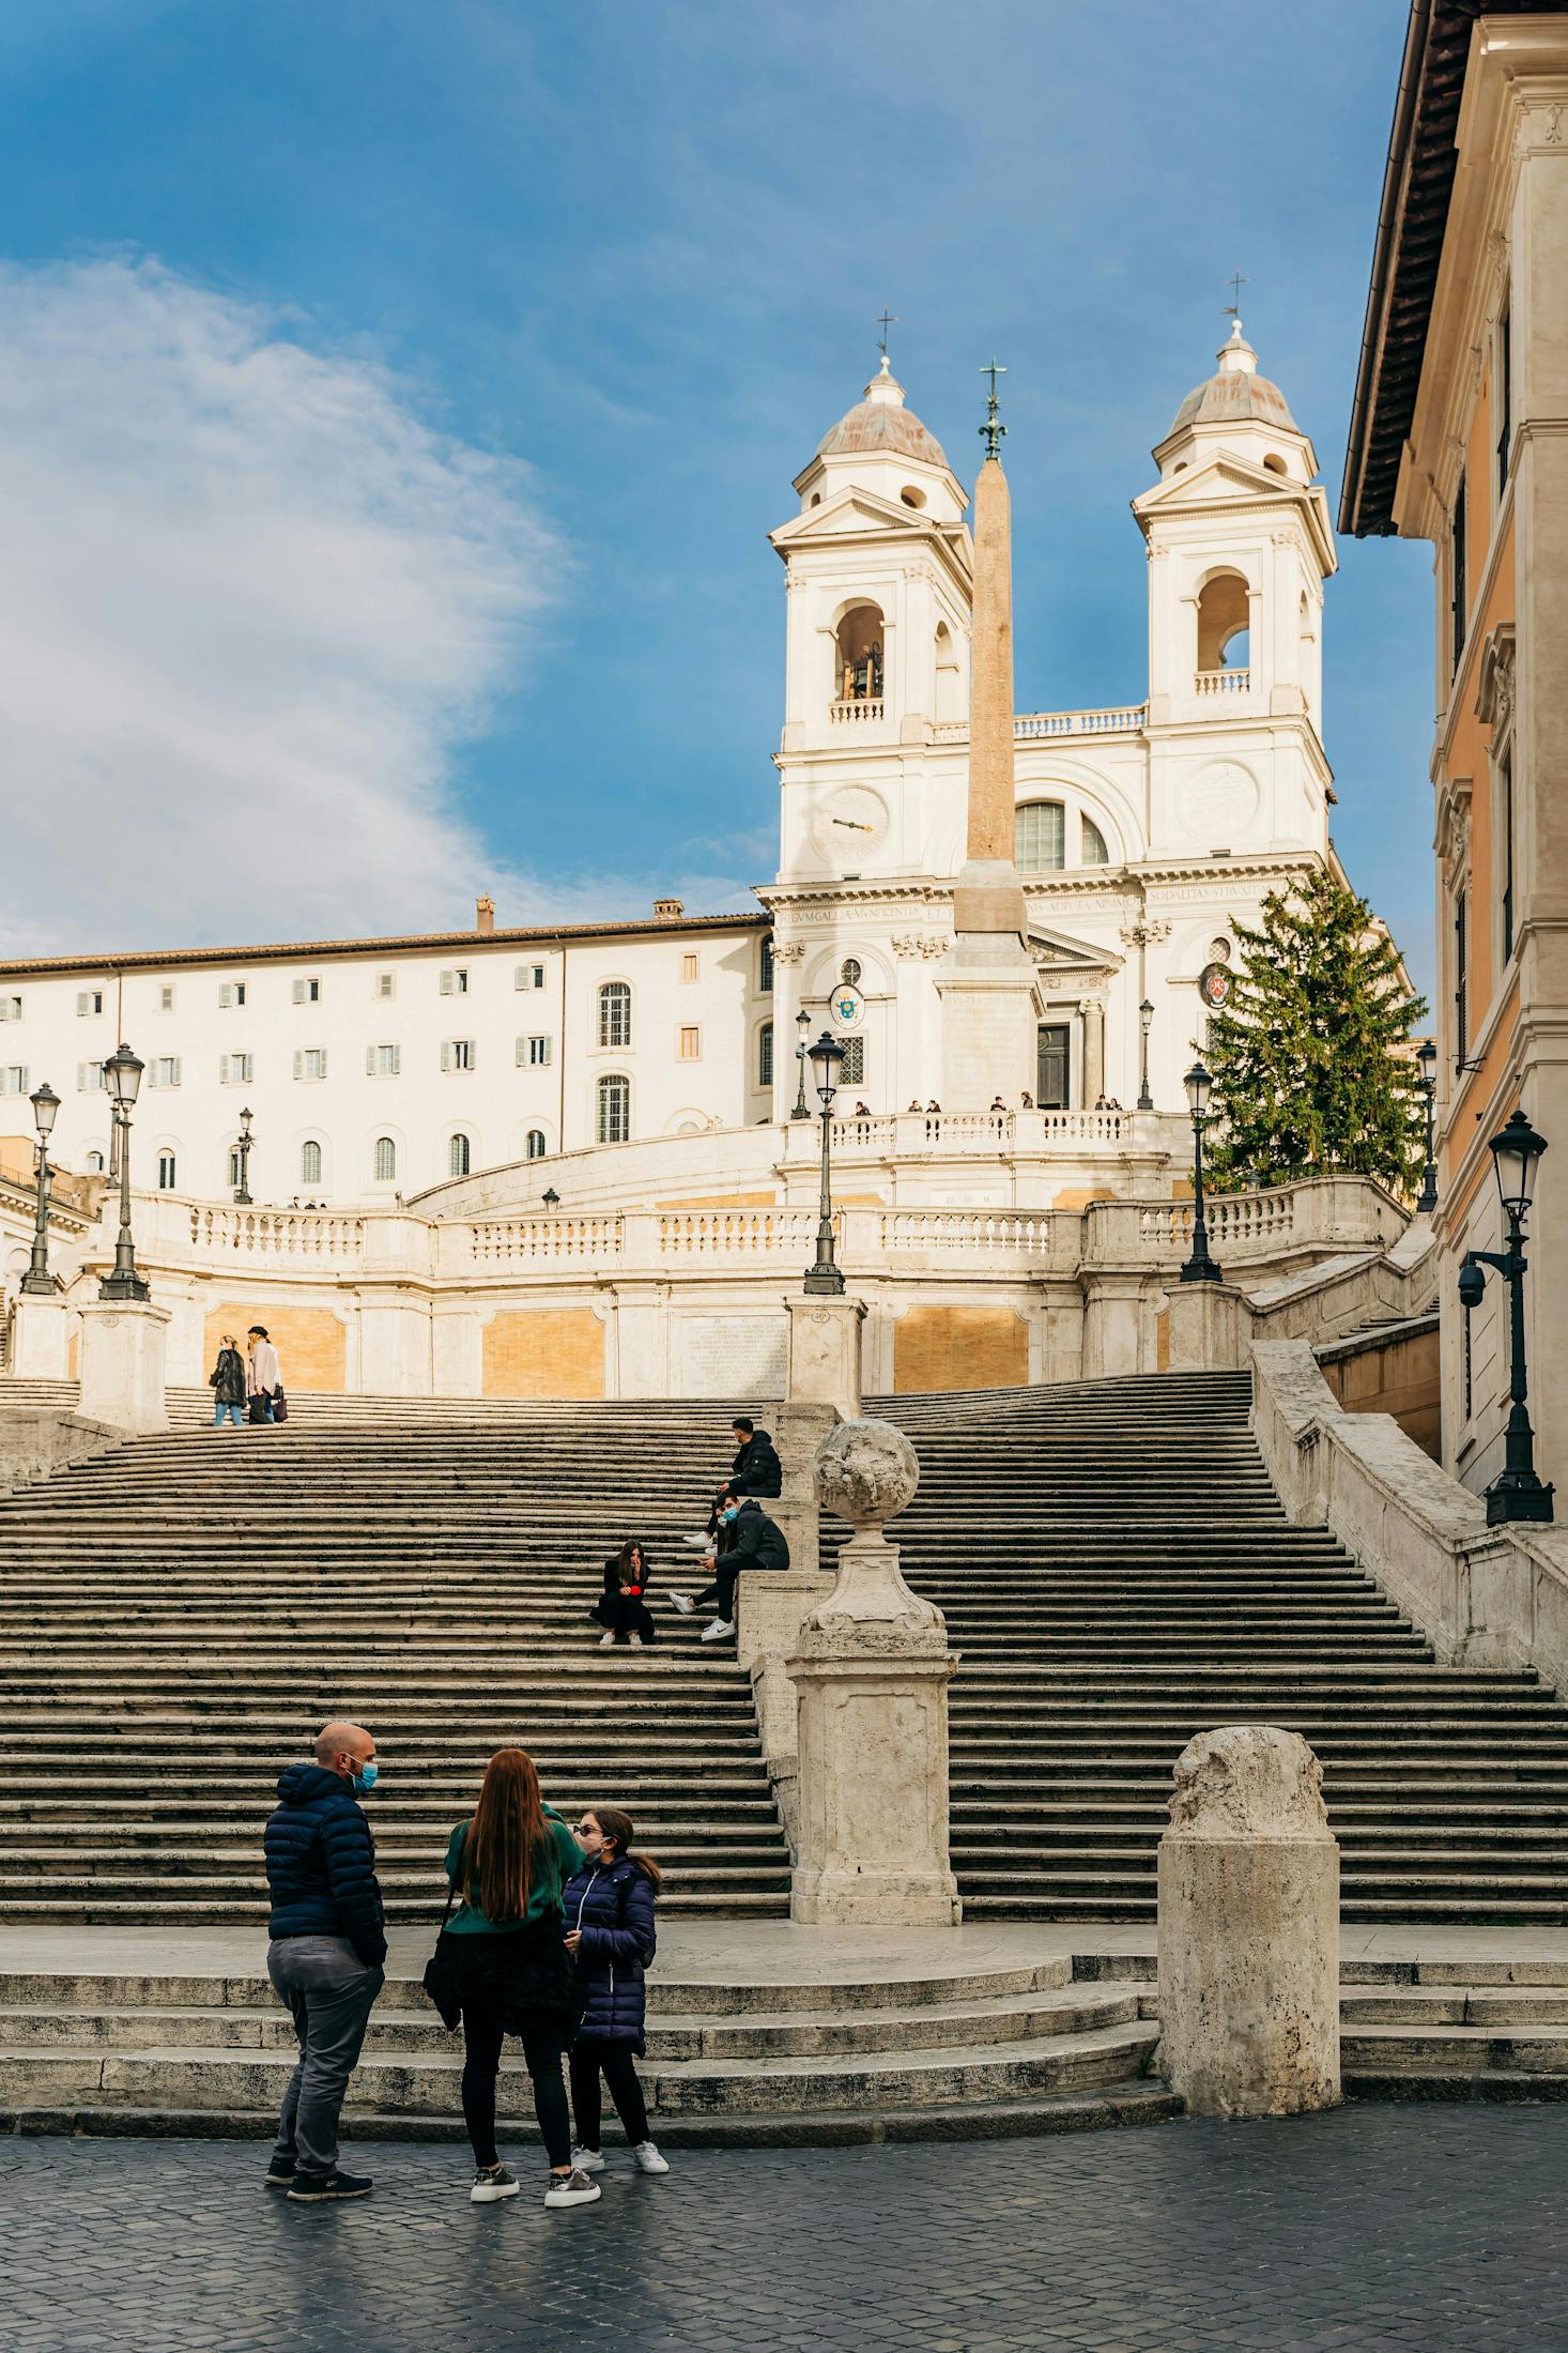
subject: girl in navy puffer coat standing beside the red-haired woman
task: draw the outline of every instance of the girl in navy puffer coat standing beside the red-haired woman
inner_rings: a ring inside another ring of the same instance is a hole
[[[578,2146],[571,2162],[585,2174],[604,2172],[599,2155],[599,2075],[609,2085],[616,2115],[644,2174],[668,2174],[670,2165],[649,2139],[649,2111],[632,2066],[644,2049],[646,1986],[642,1972],[654,1960],[654,1904],[658,1864],[632,1854],[632,1817],[602,1805],[576,1826],[585,1864],[562,1889],[567,1951],[576,1958],[588,2009],[571,2045],[571,2113]]]

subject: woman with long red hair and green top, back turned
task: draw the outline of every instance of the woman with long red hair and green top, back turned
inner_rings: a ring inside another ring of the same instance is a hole
[[[581,2014],[564,1946],[562,1887],[583,1852],[545,1805],[534,1758],[496,1748],[480,1802],[447,1842],[447,1880],[461,1906],[442,1929],[456,1955],[463,2007],[463,2122],[475,2155],[473,2202],[515,2198],[517,2174],[496,2153],[501,2045],[522,2038],[534,2113],[550,2158],[548,2207],[588,2205],[599,2184],[571,2165],[571,2115],[562,2059]]]

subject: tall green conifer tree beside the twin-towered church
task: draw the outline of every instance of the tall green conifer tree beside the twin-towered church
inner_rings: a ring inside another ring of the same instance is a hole
[[[1314,871],[1269,892],[1237,941],[1237,988],[1204,1045],[1215,1188],[1352,1172],[1413,1193],[1425,1099],[1406,1040],[1427,1002],[1366,899]]]

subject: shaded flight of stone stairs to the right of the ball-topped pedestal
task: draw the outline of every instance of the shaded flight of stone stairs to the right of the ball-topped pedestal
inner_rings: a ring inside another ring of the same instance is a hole
[[[1152,1920],[1194,1732],[1286,1725],[1324,1762],[1342,1911],[1568,1922],[1568,1713],[1450,1668],[1321,1529],[1291,1527],[1246,1374],[889,1398],[922,1487],[896,1525],[952,1682],[971,1920]]]

